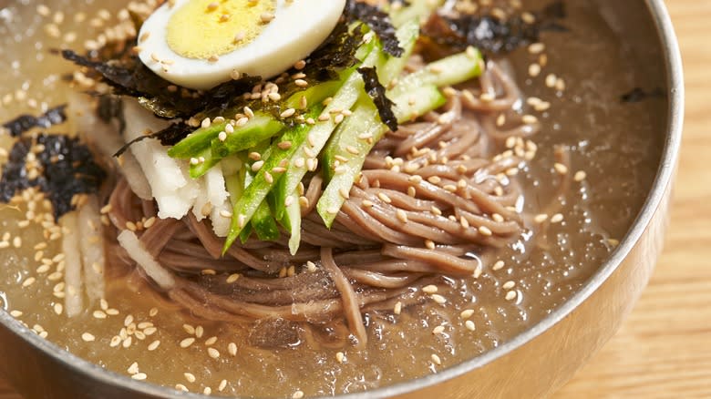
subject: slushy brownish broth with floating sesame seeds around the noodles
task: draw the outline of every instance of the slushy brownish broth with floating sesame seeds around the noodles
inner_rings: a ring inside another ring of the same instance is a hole
[[[0,76],[5,90],[0,93],[0,121],[65,102],[68,86],[59,77],[72,68],[55,62],[47,50],[65,43],[77,50],[94,45],[91,41],[107,26],[119,25],[126,17],[121,2],[26,3],[0,8],[0,67],[7,71]],[[524,9],[540,9],[548,2],[520,3]],[[510,56],[511,70],[527,96],[521,101],[521,117],[526,123],[540,123],[542,130],[532,138],[535,142],[512,138],[500,148],[501,158],[516,155],[530,161],[500,179],[520,182],[531,229],[544,233],[526,233],[483,264],[479,278],[446,279],[425,287],[421,305],[397,302],[390,312],[366,314],[366,350],[315,348],[303,335],[296,344],[257,349],[250,343],[264,333],[251,323],[206,322],[177,312],[138,276],[111,270],[110,265],[106,299],[67,319],[63,231],[46,219],[51,210],[34,193],[0,207],[0,264],[5,265],[0,292],[7,298],[3,306],[34,333],[71,353],[137,380],[199,393],[307,397],[362,391],[437,373],[506,342],[569,298],[619,243],[644,201],[662,148],[660,139],[648,132],[664,125],[659,118],[665,105],[617,101],[625,91],[620,87],[628,87],[629,81],[647,83],[635,72],[645,60],[624,56],[620,39],[604,28],[593,5],[572,3],[566,19],[566,26],[574,26],[571,32],[544,34],[541,43]],[[57,15],[59,10],[64,15]],[[34,44],[33,51],[21,50],[32,48],[27,43]],[[484,98],[490,101],[492,95]],[[252,110],[244,114],[249,117]],[[344,117],[346,113],[338,113],[334,118]],[[505,127],[508,119],[497,118],[496,124]],[[53,129],[66,130],[67,125]],[[0,135],[0,148],[5,148],[0,161],[10,146],[8,135]],[[560,146],[569,164],[555,149]],[[259,168],[254,167],[259,157],[251,156],[252,168]],[[393,168],[407,168],[394,159],[391,163]],[[559,199],[556,193],[564,179],[571,189]],[[430,182],[457,189],[456,181]],[[393,199],[383,194],[377,200]],[[407,214],[397,218],[407,223]],[[154,221],[129,223],[149,229]],[[463,218],[458,221],[469,224]],[[480,233],[491,231],[484,227]],[[437,243],[426,245],[434,248]],[[284,269],[284,274],[313,272],[316,267]],[[237,279],[239,275],[229,278]]]

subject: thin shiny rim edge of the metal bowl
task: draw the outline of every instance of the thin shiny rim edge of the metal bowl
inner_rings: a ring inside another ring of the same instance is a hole
[[[499,347],[484,353],[469,361],[459,363],[458,365],[449,367],[439,373],[429,374],[427,376],[410,380],[404,383],[393,384],[376,390],[367,391],[358,394],[343,394],[338,397],[343,399],[365,399],[365,398],[386,398],[398,394],[407,394],[417,391],[424,387],[441,383],[443,381],[458,377],[459,375],[469,373],[470,371],[482,367],[487,363],[505,356],[507,353],[519,348],[525,343],[530,342],[541,333],[547,331],[557,322],[568,316],[575,308],[593,294],[606,281],[613,272],[618,268],[623,259],[632,250],[634,244],[640,239],[644,233],[644,229],[659,206],[664,197],[665,188],[673,179],[675,166],[681,145],[682,126],[684,119],[684,77],[682,69],[681,54],[676,41],[674,27],[668,15],[663,0],[645,0],[652,16],[654,24],[657,27],[657,32],[661,44],[665,50],[665,67],[667,76],[667,87],[669,87],[669,109],[668,109],[668,126],[666,128],[667,137],[665,140],[665,148],[662,154],[659,170],[654,179],[654,185],[650,194],[644,203],[644,207],[637,219],[634,220],[632,228],[627,232],[627,235],[621,241],[619,247],[614,251],[611,258],[606,261],[603,266],[597,271],[590,281],[580,290],[576,292],[568,301],[564,302],[559,308],[551,312],[546,318],[538,322],[530,329],[517,335],[514,339],[507,343],[501,344]],[[66,363],[71,366],[77,373],[82,373],[93,380],[100,381],[108,385],[120,385],[129,390],[148,394],[163,398],[207,398],[202,394],[179,393],[170,388],[159,385],[145,384],[139,381],[130,379],[126,375],[113,373],[105,370],[95,363],[90,363],[84,359],[68,353],[56,344],[50,343],[46,339],[40,338],[35,333],[31,332],[20,322],[15,320],[8,312],[0,312],[0,323],[5,325],[11,331],[22,335],[24,339],[36,346],[40,351],[47,356],[55,358],[61,363]]]

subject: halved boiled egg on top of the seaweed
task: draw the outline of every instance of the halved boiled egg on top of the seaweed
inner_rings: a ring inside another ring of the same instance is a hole
[[[182,87],[277,76],[333,31],[345,0],[175,0],[141,26],[139,58]]]

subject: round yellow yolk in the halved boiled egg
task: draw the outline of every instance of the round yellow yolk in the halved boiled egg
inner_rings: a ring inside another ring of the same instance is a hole
[[[191,0],[170,17],[168,46],[180,56],[211,59],[252,42],[273,18],[275,0]]]

